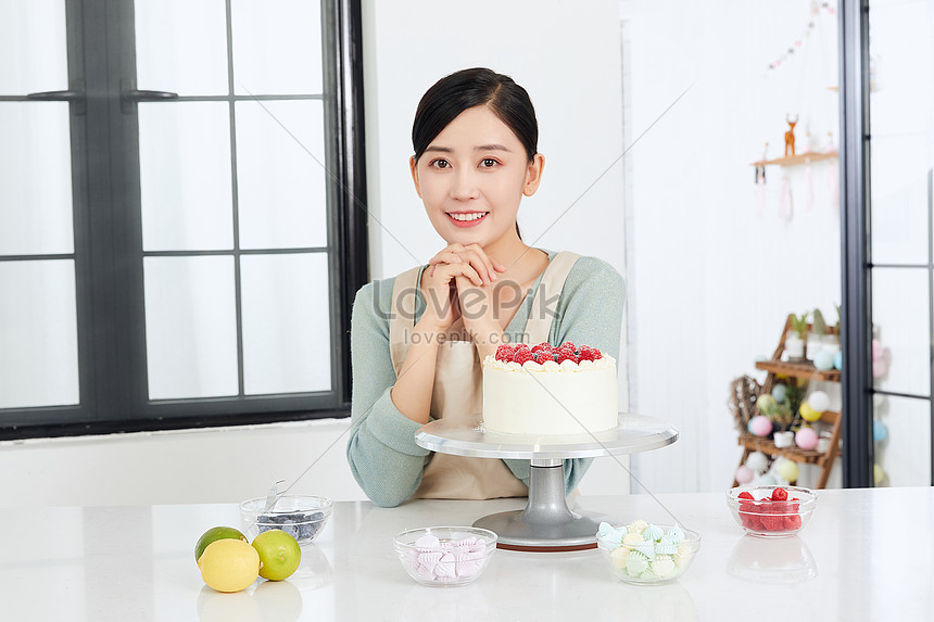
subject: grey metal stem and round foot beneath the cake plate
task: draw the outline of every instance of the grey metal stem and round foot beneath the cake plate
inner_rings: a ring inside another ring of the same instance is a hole
[[[497,548],[561,553],[596,548],[596,530],[602,521],[617,522],[568,508],[563,460],[532,459],[526,509],[490,515],[477,520],[474,526],[495,533]]]

